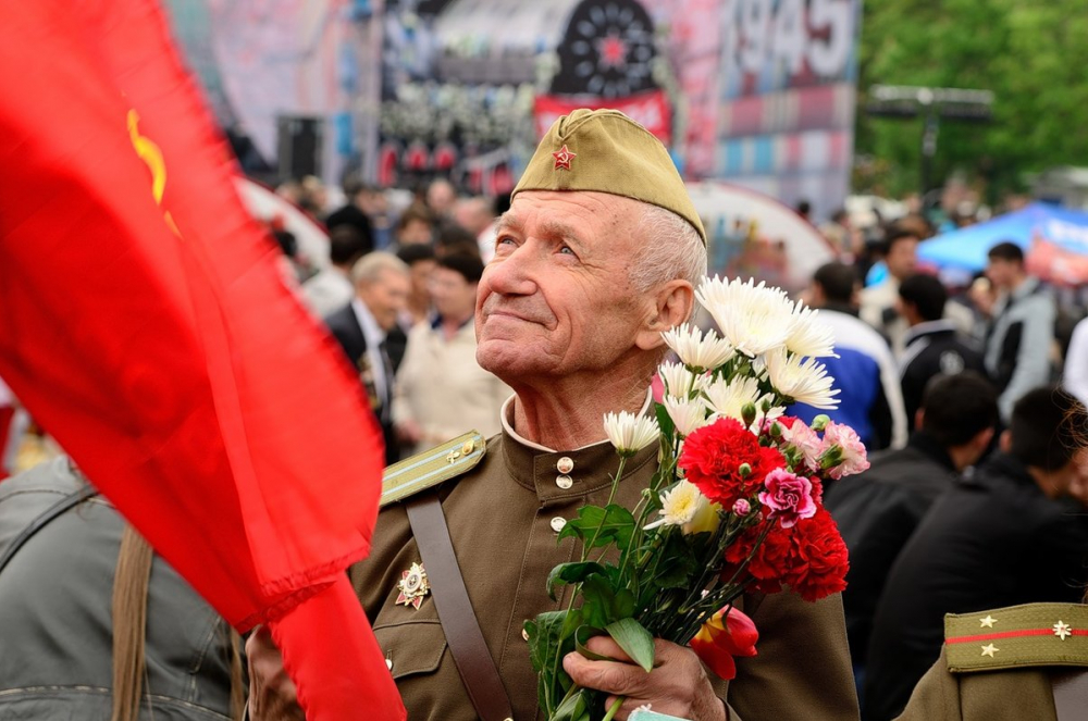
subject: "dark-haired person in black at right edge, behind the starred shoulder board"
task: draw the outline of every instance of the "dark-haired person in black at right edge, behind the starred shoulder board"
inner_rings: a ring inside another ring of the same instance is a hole
[[[867,721],[903,710],[940,654],[945,613],[1084,596],[1088,514],[1071,495],[1083,482],[1084,412],[1062,390],[1028,391],[1013,408],[1001,452],[929,510],[895,560],[874,617]],[[1010,630],[992,625],[993,633]],[[1001,646],[998,638],[980,652],[1000,654]]]

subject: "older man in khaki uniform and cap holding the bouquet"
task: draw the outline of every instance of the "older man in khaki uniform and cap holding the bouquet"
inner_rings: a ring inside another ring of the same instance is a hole
[[[616,111],[556,121],[502,217],[477,298],[477,358],[516,393],[503,431],[390,469],[370,557],[350,572],[410,719],[541,717],[523,623],[565,607],[545,588],[573,559],[556,536],[581,506],[604,505],[616,470],[602,417],[648,409],[660,334],[691,315],[705,273],[705,233],[664,146]],[[634,506],[656,457],[652,446],[628,461],[616,502]],[[738,659],[728,684],[660,641],[648,674],[577,655],[565,668],[626,696],[619,719],[645,704],[697,721],[857,719],[838,596],[752,594],[741,606],[759,654]],[[591,649],[619,656],[606,638]],[[300,718],[268,634],[248,650],[252,718]]]

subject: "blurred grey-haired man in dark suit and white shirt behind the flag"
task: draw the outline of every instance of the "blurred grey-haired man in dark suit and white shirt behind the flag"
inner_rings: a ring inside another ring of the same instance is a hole
[[[393,431],[393,381],[408,343],[397,318],[408,302],[408,266],[392,253],[363,256],[351,268],[355,298],[325,319],[325,325],[359,373],[385,437],[385,463],[400,460]]]

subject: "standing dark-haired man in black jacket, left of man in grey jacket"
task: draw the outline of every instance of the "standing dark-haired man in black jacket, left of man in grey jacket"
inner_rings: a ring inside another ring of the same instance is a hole
[[[912,431],[922,394],[931,378],[963,371],[986,373],[981,349],[962,337],[955,323],[944,318],[948,298],[948,290],[932,275],[912,275],[899,286],[899,313],[911,326],[899,368],[903,407]]]

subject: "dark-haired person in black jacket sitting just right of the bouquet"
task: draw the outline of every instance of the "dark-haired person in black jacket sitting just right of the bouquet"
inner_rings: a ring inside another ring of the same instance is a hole
[[[926,389],[918,417],[919,430],[905,448],[873,457],[868,471],[827,492],[825,504],[850,549],[842,604],[858,678],[888,570],[934,501],[989,446],[998,397],[978,373],[939,376]]]

